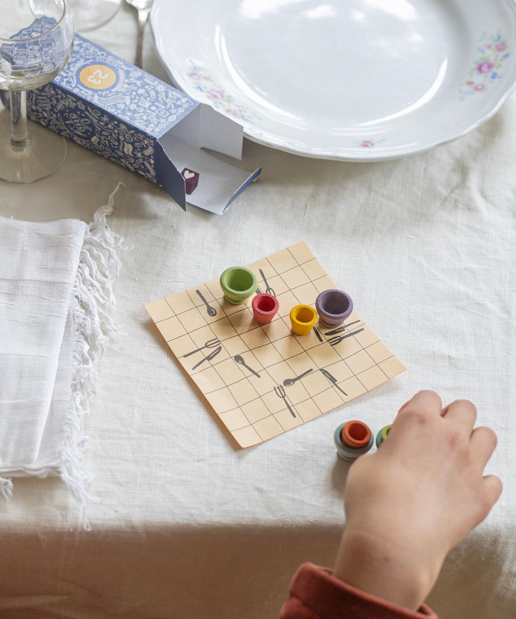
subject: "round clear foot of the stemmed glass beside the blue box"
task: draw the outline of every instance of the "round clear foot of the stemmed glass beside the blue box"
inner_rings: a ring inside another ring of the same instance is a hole
[[[11,145],[11,115],[0,113],[0,180],[8,183],[32,183],[59,170],[67,153],[64,137],[27,121],[30,143],[25,149]]]

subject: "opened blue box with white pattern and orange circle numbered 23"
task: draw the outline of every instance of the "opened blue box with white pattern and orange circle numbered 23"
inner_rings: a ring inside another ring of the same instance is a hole
[[[261,171],[201,150],[241,158],[240,125],[79,35],[64,70],[27,95],[29,118],[145,176],[185,210],[188,201],[221,214]],[[198,175],[189,196],[182,173]]]

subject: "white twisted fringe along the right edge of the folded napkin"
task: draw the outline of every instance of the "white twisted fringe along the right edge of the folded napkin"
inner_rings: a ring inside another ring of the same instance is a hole
[[[80,425],[82,415],[90,410],[90,399],[101,384],[97,363],[109,341],[106,334],[119,332],[111,318],[116,305],[113,283],[120,272],[117,250],[129,248],[121,236],[110,230],[106,216],[113,212],[114,196],[121,184],[118,183],[108,204],[95,212],[93,222],[88,225],[69,310],[74,342],[72,395],[65,423],[59,474],[75,498],[82,503],[86,530],[91,530],[86,513],[87,501],[98,500],[85,490],[91,480],[91,472],[83,455],[88,438],[82,435]]]

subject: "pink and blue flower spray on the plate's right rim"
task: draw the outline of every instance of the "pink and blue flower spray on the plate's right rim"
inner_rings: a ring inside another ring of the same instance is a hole
[[[459,99],[464,101],[469,95],[484,92],[494,80],[500,79],[499,69],[509,56],[509,43],[500,32],[488,35],[484,32],[478,41],[480,55],[468,72],[468,79],[460,88]]]

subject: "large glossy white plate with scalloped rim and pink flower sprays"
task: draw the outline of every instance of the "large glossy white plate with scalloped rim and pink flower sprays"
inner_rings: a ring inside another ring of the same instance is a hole
[[[427,150],[516,84],[514,0],[155,0],[151,24],[179,89],[309,157]]]

